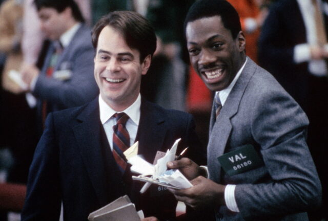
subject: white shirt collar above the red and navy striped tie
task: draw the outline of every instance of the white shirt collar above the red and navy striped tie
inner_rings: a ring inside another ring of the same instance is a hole
[[[134,103],[126,108],[124,113],[126,113],[134,124],[139,125],[140,120],[140,106],[141,106],[141,96],[138,95]],[[99,95],[99,111],[100,111],[100,121],[101,124],[106,123],[115,113],[121,113],[114,111]]]

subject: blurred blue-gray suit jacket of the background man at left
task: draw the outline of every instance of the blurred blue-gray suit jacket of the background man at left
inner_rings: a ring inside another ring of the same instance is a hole
[[[46,76],[53,51],[54,46],[51,44],[33,95],[39,101],[46,100],[50,105],[50,112],[79,106],[95,98],[99,90],[93,75],[94,49],[90,29],[86,25],[81,25],[59,57],[54,72],[64,71],[70,74],[69,78]]]

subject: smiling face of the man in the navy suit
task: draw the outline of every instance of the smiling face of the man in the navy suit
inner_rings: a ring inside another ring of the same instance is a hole
[[[121,33],[106,26],[98,38],[94,77],[100,96],[115,111],[123,111],[137,99],[141,76],[149,69],[151,56],[140,63],[140,53],[127,45]]]

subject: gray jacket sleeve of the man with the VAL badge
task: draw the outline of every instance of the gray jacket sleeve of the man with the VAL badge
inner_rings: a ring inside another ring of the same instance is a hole
[[[321,185],[306,144],[309,124],[299,105],[286,93],[272,90],[250,110],[251,132],[260,145],[271,179],[236,186],[235,197],[246,220],[304,212],[321,201]]]

